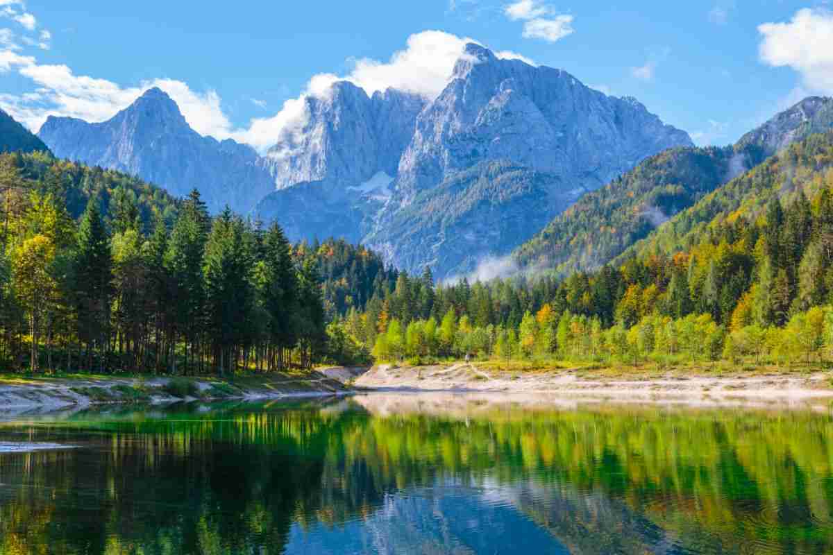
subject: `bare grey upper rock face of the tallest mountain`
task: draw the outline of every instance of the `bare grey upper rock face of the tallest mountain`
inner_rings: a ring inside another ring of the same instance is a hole
[[[399,164],[406,195],[481,161],[508,160],[587,191],[670,146],[690,146],[632,98],[607,97],[567,72],[466,47],[446,89],[416,118]]]

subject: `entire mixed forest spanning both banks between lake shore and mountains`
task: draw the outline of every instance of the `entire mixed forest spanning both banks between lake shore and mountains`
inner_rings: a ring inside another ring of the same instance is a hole
[[[650,166],[648,166],[650,167]],[[702,196],[596,271],[435,284],[343,240],[209,216],[116,171],[0,158],[0,357],[228,374],[459,358],[820,364],[833,339],[833,133]]]

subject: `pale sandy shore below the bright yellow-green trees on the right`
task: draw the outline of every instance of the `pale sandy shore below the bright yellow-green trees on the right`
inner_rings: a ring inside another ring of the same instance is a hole
[[[616,399],[621,402],[669,399],[689,403],[732,400],[781,403],[833,402],[831,375],[771,374],[660,376],[605,379],[574,371],[501,372],[476,364],[392,367],[381,364],[356,379],[357,388],[387,392],[477,392],[557,394],[559,399]]]

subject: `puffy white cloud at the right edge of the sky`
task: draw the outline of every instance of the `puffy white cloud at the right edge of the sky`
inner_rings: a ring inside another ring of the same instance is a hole
[[[833,93],[833,13],[804,8],[790,22],[758,26],[761,61],[772,67],[791,67],[805,87]]]

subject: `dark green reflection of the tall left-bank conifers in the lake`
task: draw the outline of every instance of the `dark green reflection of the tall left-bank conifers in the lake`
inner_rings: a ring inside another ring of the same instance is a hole
[[[295,515],[317,510],[327,423],[314,411],[92,427],[77,450],[0,457],[0,482],[30,484],[0,503],[0,554],[282,553]]]

